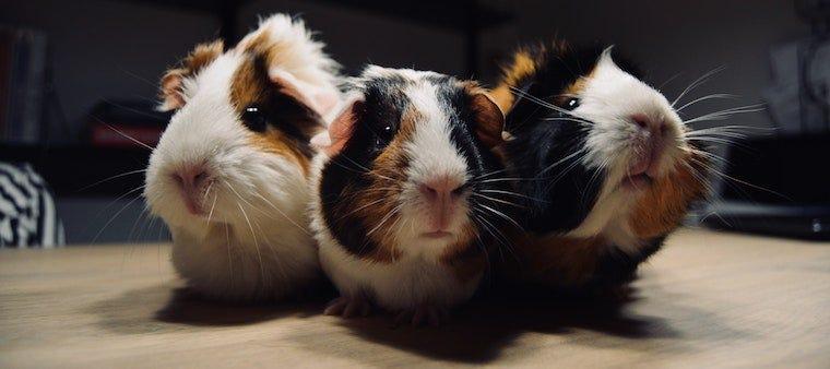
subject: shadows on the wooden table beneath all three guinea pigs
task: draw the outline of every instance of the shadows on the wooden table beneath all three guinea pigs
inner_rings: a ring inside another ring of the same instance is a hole
[[[318,317],[324,306],[321,297],[307,302],[221,303],[204,300],[171,284],[161,284],[97,302],[90,312],[100,317],[99,324],[105,329],[122,334],[211,330],[285,317],[315,317],[316,324],[339,324],[348,333],[323,328],[296,332],[288,337],[320,355],[376,362],[378,355],[382,357],[389,348],[394,348],[418,357],[485,364],[501,358],[503,352],[527,332],[561,335],[564,340],[573,340],[568,334],[576,331],[636,341],[678,335],[661,318],[628,311],[627,306],[636,302],[636,299],[596,300],[549,291],[498,291],[478,297],[454,311],[452,320],[443,326],[392,329],[391,317],[382,313],[353,320]],[[602,344],[579,337],[576,340],[580,344]]]

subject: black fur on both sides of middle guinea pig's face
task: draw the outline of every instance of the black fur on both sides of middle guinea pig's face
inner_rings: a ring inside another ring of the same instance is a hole
[[[353,87],[359,88],[364,96],[364,103],[359,105],[360,108],[356,111],[357,120],[354,132],[343,151],[332,157],[323,168],[320,197],[324,219],[333,236],[352,254],[365,257],[379,247],[366,237],[368,230],[375,225],[365,224],[365,221],[356,215],[344,217],[343,214],[353,207],[348,203],[343,203],[343,201],[348,201],[344,200],[344,195],[351,193],[348,191],[359,191],[369,186],[366,171],[374,167],[375,159],[398,132],[402,116],[411,104],[404,91],[413,82],[396,75],[363,79],[360,81],[359,85]],[[438,86],[439,104],[444,106],[443,110],[451,120],[451,140],[461,156],[466,159],[469,176],[477,178],[488,172],[499,172],[500,176],[487,178],[506,177],[500,160],[478,140],[475,133],[475,116],[470,107],[470,96],[459,81],[437,74],[425,78],[425,81]],[[401,170],[405,170],[405,168]],[[481,190],[486,189],[500,191],[510,189],[507,181],[483,182],[473,180],[466,184],[465,190],[474,193],[481,193]],[[487,193],[487,195],[502,200],[502,195],[496,193]],[[511,200],[513,199],[507,198],[502,201]],[[508,216],[513,216],[510,215],[512,210],[501,209],[503,205],[497,201],[471,195],[469,202],[471,207],[477,207],[476,204],[485,205],[499,209]],[[486,211],[476,210],[474,213],[476,216],[473,217],[473,222],[481,236],[478,247],[490,247],[506,242],[503,236],[498,235],[498,229],[503,229],[506,219]],[[491,227],[497,227],[497,229],[491,233],[483,231],[483,229]],[[494,240],[494,237],[500,239]],[[456,255],[456,259],[459,261],[469,259],[471,253],[477,255],[481,252],[478,248],[470,248],[467,251],[470,252]]]

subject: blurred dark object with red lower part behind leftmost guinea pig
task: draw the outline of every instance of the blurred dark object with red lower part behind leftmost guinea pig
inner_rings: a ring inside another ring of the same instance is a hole
[[[98,147],[131,148],[141,142],[155,146],[171,114],[155,110],[144,100],[105,100],[93,107],[87,122],[87,140]],[[135,141],[133,141],[135,140]]]

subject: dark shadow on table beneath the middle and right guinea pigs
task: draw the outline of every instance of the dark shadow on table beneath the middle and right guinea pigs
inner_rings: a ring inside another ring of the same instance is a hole
[[[454,311],[449,324],[437,329],[393,329],[391,317],[376,314],[339,321],[361,341],[349,342],[345,345],[347,348],[343,347],[342,337],[304,335],[292,340],[322,355],[367,357],[372,360],[377,359],[374,355],[383,355],[374,347],[380,344],[417,356],[485,364],[500,358],[505,348],[527,332],[567,335],[576,330],[586,330],[636,340],[677,335],[660,318],[626,313],[625,307],[631,301],[566,297],[530,290],[501,291],[475,299]]]

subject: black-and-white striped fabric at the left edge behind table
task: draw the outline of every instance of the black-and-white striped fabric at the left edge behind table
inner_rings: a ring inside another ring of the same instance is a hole
[[[63,246],[63,226],[43,178],[32,166],[0,163],[0,247]]]

